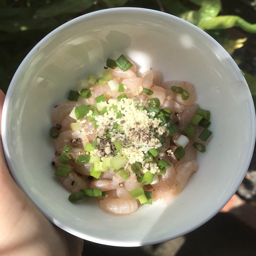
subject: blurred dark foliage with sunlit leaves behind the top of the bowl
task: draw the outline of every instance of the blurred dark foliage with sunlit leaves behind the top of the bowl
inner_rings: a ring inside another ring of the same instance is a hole
[[[187,20],[234,58],[256,102],[256,0],[0,0],[0,88],[28,52],[68,20],[113,7],[141,7]]]

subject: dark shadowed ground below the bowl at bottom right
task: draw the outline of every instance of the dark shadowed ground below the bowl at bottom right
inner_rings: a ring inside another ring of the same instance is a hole
[[[256,232],[229,213],[174,240],[142,247],[114,247],[84,241],[83,256],[255,256]]]

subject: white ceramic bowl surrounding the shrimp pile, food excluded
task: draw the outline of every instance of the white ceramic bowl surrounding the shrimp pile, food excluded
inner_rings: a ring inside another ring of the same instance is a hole
[[[213,139],[198,154],[199,170],[169,206],[143,205],[126,216],[103,212],[93,200],[68,201],[51,167],[51,111],[76,81],[108,58],[124,54],[164,81],[195,84],[197,102],[211,111]],[[92,12],[40,41],[15,73],[4,103],[4,150],[12,176],[38,209],[60,228],[96,243],[155,244],[212,218],[244,178],[255,141],[255,113],[235,62],[210,36],[172,15],[139,8]]]

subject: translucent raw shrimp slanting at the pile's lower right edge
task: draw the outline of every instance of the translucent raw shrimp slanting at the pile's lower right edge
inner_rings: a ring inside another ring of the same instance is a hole
[[[187,184],[188,178],[193,172],[198,169],[198,163],[195,160],[191,160],[185,164],[180,165],[176,169],[176,175],[174,183],[171,187],[173,194],[177,195]]]

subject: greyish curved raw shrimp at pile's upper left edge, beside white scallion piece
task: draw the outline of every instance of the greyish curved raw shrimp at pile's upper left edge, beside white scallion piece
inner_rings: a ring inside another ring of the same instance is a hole
[[[76,101],[64,101],[56,105],[52,110],[52,124],[61,124],[62,120],[69,116],[74,107],[80,107],[81,103]]]

